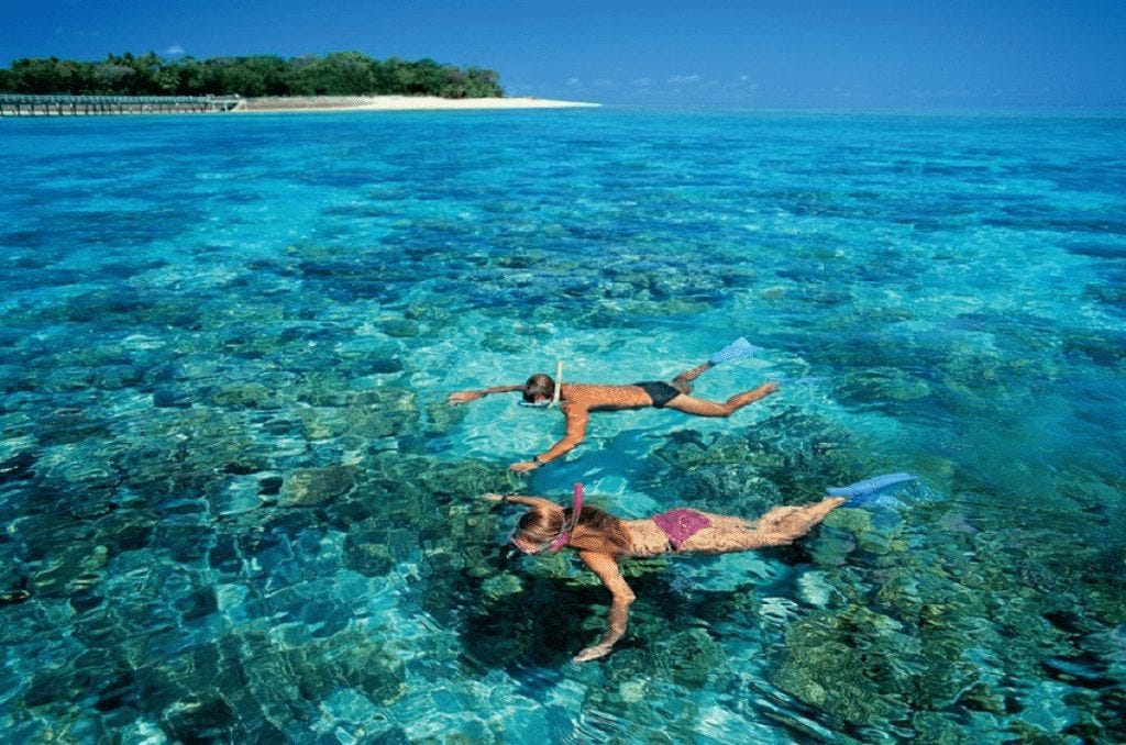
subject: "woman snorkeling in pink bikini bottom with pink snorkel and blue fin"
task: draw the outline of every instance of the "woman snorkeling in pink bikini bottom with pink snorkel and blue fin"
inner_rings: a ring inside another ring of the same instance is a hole
[[[538,496],[485,494],[493,502],[512,502],[530,508],[516,530],[512,544],[526,554],[554,554],[562,548],[579,551],[579,558],[598,575],[613,595],[608,628],[602,638],[574,656],[574,662],[598,659],[609,654],[626,630],[629,605],[635,595],[622,577],[623,558],[663,554],[729,554],[767,546],[785,546],[807,535],[830,512],[847,502],[859,505],[884,490],[914,481],[911,474],[888,474],[842,488],[831,496],[803,506],[776,506],[758,520],[734,518],[689,508],[677,508],[645,520],[620,520],[586,506],[582,485],[575,484],[571,509]]]

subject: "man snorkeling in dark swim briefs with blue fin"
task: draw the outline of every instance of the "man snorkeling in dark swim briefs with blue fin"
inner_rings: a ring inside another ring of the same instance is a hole
[[[465,404],[493,393],[522,393],[524,404],[547,406],[560,402],[560,411],[566,418],[566,433],[563,439],[531,460],[515,463],[510,470],[525,473],[551,463],[573,450],[587,436],[590,413],[596,411],[623,411],[628,409],[672,409],[694,416],[730,416],[748,404],[763,398],[778,389],[777,383],[766,383],[753,391],[735,394],[724,403],[705,401],[691,396],[691,382],[720,362],[748,357],[756,351],[745,339],[739,339],[716,352],[707,362],[681,372],[671,383],[649,380],[629,385],[592,385],[586,383],[556,383],[551,376],[537,372],[524,385],[506,385],[483,391],[458,391],[446,400],[450,405]]]

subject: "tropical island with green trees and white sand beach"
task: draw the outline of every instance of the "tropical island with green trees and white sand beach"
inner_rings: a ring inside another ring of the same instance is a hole
[[[323,56],[163,60],[153,52],[98,62],[20,59],[0,68],[0,93],[28,96],[236,97],[236,110],[340,108],[516,108],[589,106],[506,98],[500,75],[434,60],[376,60],[360,52]]]

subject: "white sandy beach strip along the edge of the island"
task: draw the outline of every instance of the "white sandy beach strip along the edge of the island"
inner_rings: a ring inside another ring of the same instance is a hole
[[[313,111],[453,111],[485,109],[595,108],[601,104],[551,98],[439,98],[437,96],[294,96],[245,98],[233,114]]]

